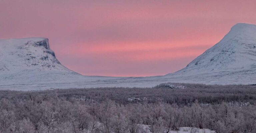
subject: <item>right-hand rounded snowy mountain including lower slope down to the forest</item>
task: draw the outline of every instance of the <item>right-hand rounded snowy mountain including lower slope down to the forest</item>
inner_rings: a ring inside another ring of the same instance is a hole
[[[256,84],[256,25],[234,25],[219,43],[165,77],[186,83]]]

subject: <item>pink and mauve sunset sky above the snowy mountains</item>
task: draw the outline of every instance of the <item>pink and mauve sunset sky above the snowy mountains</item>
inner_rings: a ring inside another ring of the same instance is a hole
[[[0,38],[46,37],[84,75],[152,76],[184,68],[236,23],[256,24],[254,0],[1,0]]]

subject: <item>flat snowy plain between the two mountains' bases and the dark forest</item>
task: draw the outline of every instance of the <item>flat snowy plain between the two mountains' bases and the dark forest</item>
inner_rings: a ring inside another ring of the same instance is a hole
[[[219,75],[197,76],[155,76],[155,77],[100,77],[83,76],[65,72],[22,72],[2,74],[0,90],[44,90],[55,88],[90,87],[153,87],[161,83],[202,83],[202,84],[255,84],[255,72],[219,73]],[[247,75],[247,76],[245,76]]]

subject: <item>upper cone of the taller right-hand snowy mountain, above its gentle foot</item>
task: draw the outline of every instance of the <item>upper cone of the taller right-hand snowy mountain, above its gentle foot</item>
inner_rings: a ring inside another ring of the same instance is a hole
[[[243,71],[256,67],[256,25],[238,23],[213,47],[176,73]]]

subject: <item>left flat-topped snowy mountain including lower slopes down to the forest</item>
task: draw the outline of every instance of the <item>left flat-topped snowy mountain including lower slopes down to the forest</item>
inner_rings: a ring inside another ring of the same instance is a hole
[[[83,76],[63,66],[47,38],[0,40],[0,89],[87,87],[112,77]]]

